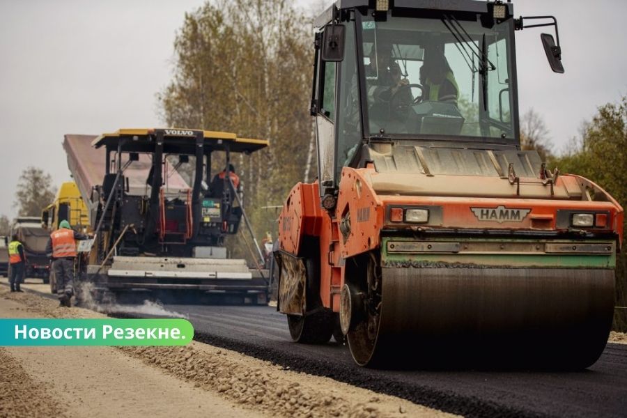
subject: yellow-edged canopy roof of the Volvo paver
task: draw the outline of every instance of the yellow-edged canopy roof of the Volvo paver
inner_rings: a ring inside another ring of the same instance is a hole
[[[118,144],[126,153],[152,153],[155,150],[157,136],[163,137],[164,153],[194,155],[196,137],[201,136],[205,151],[224,151],[233,153],[253,153],[267,147],[265,139],[240,138],[231,132],[194,130],[183,128],[132,128],[120,129],[109,134],[102,134],[91,143],[100,148],[106,146],[116,150]]]

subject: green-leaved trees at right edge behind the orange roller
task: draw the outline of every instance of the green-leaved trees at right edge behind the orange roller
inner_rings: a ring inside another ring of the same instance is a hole
[[[620,103],[598,108],[590,123],[582,128],[582,138],[552,165],[562,173],[575,173],[594,181],[627,207],[627,96]],[[627,224],[623,225],[623,236]],[[625,247],[617,258],[617,299],[627,307],[627,256]],[[627,331],[627,309],[617,309],[614,327]]]

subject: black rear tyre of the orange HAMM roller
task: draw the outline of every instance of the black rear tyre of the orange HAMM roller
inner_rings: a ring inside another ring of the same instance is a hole
[[[304,344],[324,344],[329,342],[334,329],[334,315],[323,307],[320,300],[320,246],[318,240],[305,238],[304,264],[305,312],[300,315],[288,315],[288,327],[293,341]]]

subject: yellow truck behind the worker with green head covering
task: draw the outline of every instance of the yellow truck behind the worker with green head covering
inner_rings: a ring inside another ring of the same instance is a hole
[[[66,181],[56,192],[54,202],[46,206],[41,212],[41,224],[48,233],[59,229],[61,221],[68,221],[73,229],[82,233],[91,233],[87,207],[75,182]],[[84,270],[89,262],[90,248],[84,243],[77,243],[79,256],[76,258],[75,269],[77,272]],[[56,277],[54,270],[49,270],[50,293],[56,294]]]

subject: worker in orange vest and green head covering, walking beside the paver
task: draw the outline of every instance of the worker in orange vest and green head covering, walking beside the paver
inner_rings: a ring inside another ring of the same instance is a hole
[[[74,295],[74,262],[76,260],[76,240],[87,240],[89,237],[78,233],[70,227],[70,222],[61,221],[59,229],[50,234],[46,253],[52,257],[52,270],[56,278],[56,293],[60,307],[72,306]]]

